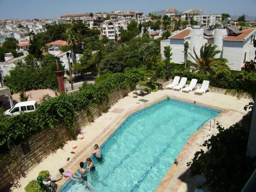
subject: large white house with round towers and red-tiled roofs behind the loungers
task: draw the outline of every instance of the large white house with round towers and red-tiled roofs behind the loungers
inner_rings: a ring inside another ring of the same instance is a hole
[[[254,59],[255,48],[253,39],[255,39],[256,29],[250,28],[238,31],[233,27],[227,29],[215,29],[212,35],[203,28],[186,28],[168,39],[161,40],[161,55],[164,58],[164,47],[172,47],[172,62],[184,63],[184,43],[189,43],[189,53],[194,56],[194,48],[200,55],[200,48],[207,42],[217,45],[221,51],[217,57],[223,57],[228,60],[228,66],[233,71],[241,71],[244,61]],[[194,61],[188,55],[188,60]]]

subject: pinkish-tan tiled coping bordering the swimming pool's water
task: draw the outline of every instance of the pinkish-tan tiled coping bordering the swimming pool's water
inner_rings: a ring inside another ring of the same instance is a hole
[[[74,161],[72,162],[68,162],[65,166],[63,166],[63,168],[66,170],[68,170],[71,173],[75,173],[78,169],[78,165],[80,161],[85,161],[87,157],[90,157],[91,154],[91,148],[92,146],[97,143],[99,146],[101,146],[106,140],[108,140],[108,138],[118,129],[118,127],[125,121],[125,119],[127,119],[127,117],[129,117],[130,115],[143,110],[144,108],[147,108],[150,105],[156,104],[166,98],[170,98],[170,99],[176,99],[179,101],[185,101],[188,103],[193,103],[193,104],[197,104],[197,105],[201,105],[201,106],[206,106],[208,108],[212,108],[215,110],[220,110],[222,111],[216,118],[221,117],[222,115],[226,114],[228,111],[230,110],[226,110],[223,108],[219,108],[217,106],[212,106],[212,105],[208,105],[208,104],[204,104],[201,102],[196,102],[194,103],[194,100],[190,100],[190,99],[181,99],[179,97],[170,95],[170,94],[164,94],[162,97],[155,99],[154,101],[148,101],[145,103],[142,103],[141,105],[137,106],[134,109],[130,109],[128,110],[117,122],[112,122],[111,124],[109,124],[108,126],[106,126],[100,133],[99,133],[99,137],[97,139],[92,140],[89,144],[87,144],[86,146],[84,146],[82,148],[82,150],[78,153],[76,153],[76,155],[73,157]],[[191,136],[189,137],[189,139],[187,140],[187,142],[189,144],[185,144],[182,148],[182,150],[180,151],[179,155],[177,156],[177,159],[179,159],[179,161],[182,161],[183,158],[186,156],[187,152],[190,150],[190,148],[192,147],[192,144],[195,144],[195,140],[196,137],[199,136],[200,134],[202,134],[203,132],[205,132],[204,129],[199,129],[198,131],[196,131],[194,134],[191,134]],[[165,176],[163,177],[161,183],[158,185],[158,187],[156,188],[156,191],[160,192],[160,191],[166,191],[167,188],[169,187],[169,182],[170,180],[174,177],[175,172],[177,171],[177,168],[179,166],[176,166],[176,164],[172,164],[170,165],[168,171],[166,172]],[[57,181],[57,190],[59,191],[59,189],[62,187],[62,185],[64,185],[66,182],[68,181],[68,178],[62,178],[60,181]],[[180,182],[181,183],[181,182]],[[179,184],[179,183],[178,183]]]

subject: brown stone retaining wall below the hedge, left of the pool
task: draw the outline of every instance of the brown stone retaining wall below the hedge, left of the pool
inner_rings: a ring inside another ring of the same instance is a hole
[[[99,117],[102,113],[108,111],[110,107],[122,97],[126,96],[130,90],[114,91],[109,101],[101,105],[89,106],[88,110],[83,110],[78,114],[75,132],[78,133],[81,127],[89,124],[93,119]],[[58,137],[61,135],[61,137]],[[8,187],[15,179],[26,175],[26,173],[38,164],[42,159],[46,158],[57,148],[61,147],[67,140],[71,139],[69,130],[64,126],[57,126],[52,130],[44,130],[37,135],[28,139],[27,143],[13,146],[10,159],[0,159],[0,189]],[[24,146],[25,145],[25,146]],[[28,146],[30,152],[28,151]]]

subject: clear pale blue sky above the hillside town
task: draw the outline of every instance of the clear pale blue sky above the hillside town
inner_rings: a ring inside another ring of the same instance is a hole
[[[0,19],[58,18],[62,14],[86,12],[143,11],[178,8],[202,9],[205,14],[227,12],[230,15],[256,16],[256,0],[0,0]]]

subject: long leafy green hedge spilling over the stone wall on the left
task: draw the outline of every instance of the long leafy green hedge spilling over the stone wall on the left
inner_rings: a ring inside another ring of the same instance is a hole
[[[6,117],[0,122],[0,153],[8,152],[13,144],[26,141],[32,135],[45,129],[54,129],[63,124],[73,132],[77,112],[91,103],[103,103],[117,89],[134,89],[142,75],[136,69],[100,78],[95,84],[84,83],[79,92],[72,95],[61,94],[42,102],[32,113]]]

